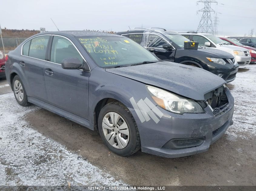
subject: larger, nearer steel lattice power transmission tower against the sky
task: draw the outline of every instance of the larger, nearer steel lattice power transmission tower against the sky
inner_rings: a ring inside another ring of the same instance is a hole
[[[211,20],[211,12],[215,12],[211,8],[211,3],[218,3],[215,0],[201,0],[197,3],[204,3],[204,8],[198,10],[197,12],[203,12],[202,18],[197,28],[197,32],[214,34],[212,20]]]

